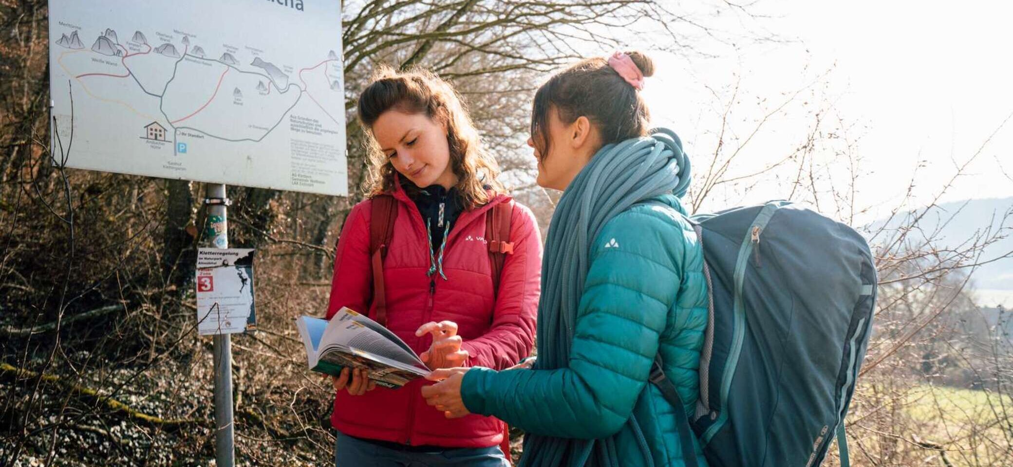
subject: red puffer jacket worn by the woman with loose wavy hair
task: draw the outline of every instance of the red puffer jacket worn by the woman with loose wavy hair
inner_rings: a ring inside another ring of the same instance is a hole
[[[432,343],[430,335],[415,337],[415,330],[428,321],[451,320],[458,324],[462,348],[470,354],[466,366],[503,369],[531,352],[535,315],[541,288],[542,243],[538,223],[527,207],[515,203],[510,241],[514,254],[503,262],[498,297],[494,296],[485,212],[493,204],[510,202],[497,195],[490,203],[462,212],[451,226],[444,251],[447,280],[434,275],[431,288],[428,244],[425,225],[415,203],[400,188],[393,193],[397,220],[387,257],[384,284],[387,291],[387,328],[416,353]],[[334,258],[327,317],[341,306],[364,310],[373,297],[370,262],[371,200],[352,208]],[[432,290],[432,291],[431,291]],[[373,317],[373,309],[370,309]],[[400,389],[377,387],[364,395],[338,391],[331,424],[339,432],[359,438],[412,446],[485,448],[503,439],[502,422],[471,414],[447,419],[425,404],[420,388],[432,384],[417,379]]]

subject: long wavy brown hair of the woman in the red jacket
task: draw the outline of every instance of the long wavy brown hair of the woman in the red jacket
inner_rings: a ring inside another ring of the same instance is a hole
[[[399,72],[381,66],[374,73],[370,85],[359,95],[359,120],[371,133],[380,115],[391,109],[411,114],[424,113],[446,124],[451,170],[458,178],[455,188],[466,209],[489,201],[486,186],[494,191],[505,191],[496,180],[499,168],[495,159],[482,148],[478,130],[450,83],[426,70]],[[371,164],[366,181],[367,192],[371,195],[390,192],[394,189],[394,166],[380,151],[372,133],[368,145]],[[412,192],[418,187],[405,177],[401,177],[401,181],[409,194],[414,194]]]

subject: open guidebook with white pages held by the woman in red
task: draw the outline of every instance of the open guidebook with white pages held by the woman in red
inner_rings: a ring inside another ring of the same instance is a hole
[[[378,385],[397,388],[431,371],[394,333],[346,307],[329,321],[300,316],[296,328],[316,372],[339,376],[344,367],[366,368]]]

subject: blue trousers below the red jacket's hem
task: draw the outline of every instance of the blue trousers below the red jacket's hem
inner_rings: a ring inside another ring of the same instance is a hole
[[[341,433],[334,446],[336,467],[510,467],[498,446],[413,452],[375,445]]]

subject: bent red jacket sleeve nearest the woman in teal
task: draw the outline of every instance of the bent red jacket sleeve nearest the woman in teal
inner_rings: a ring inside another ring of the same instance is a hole
[[[508,368],[531,354],[535,344],[542,240],[535,215],[521,204],[514,205],[510,239],[514,254],[503,261],[492,325],[482,337],[461,344],[469,354],[466,366]]]

